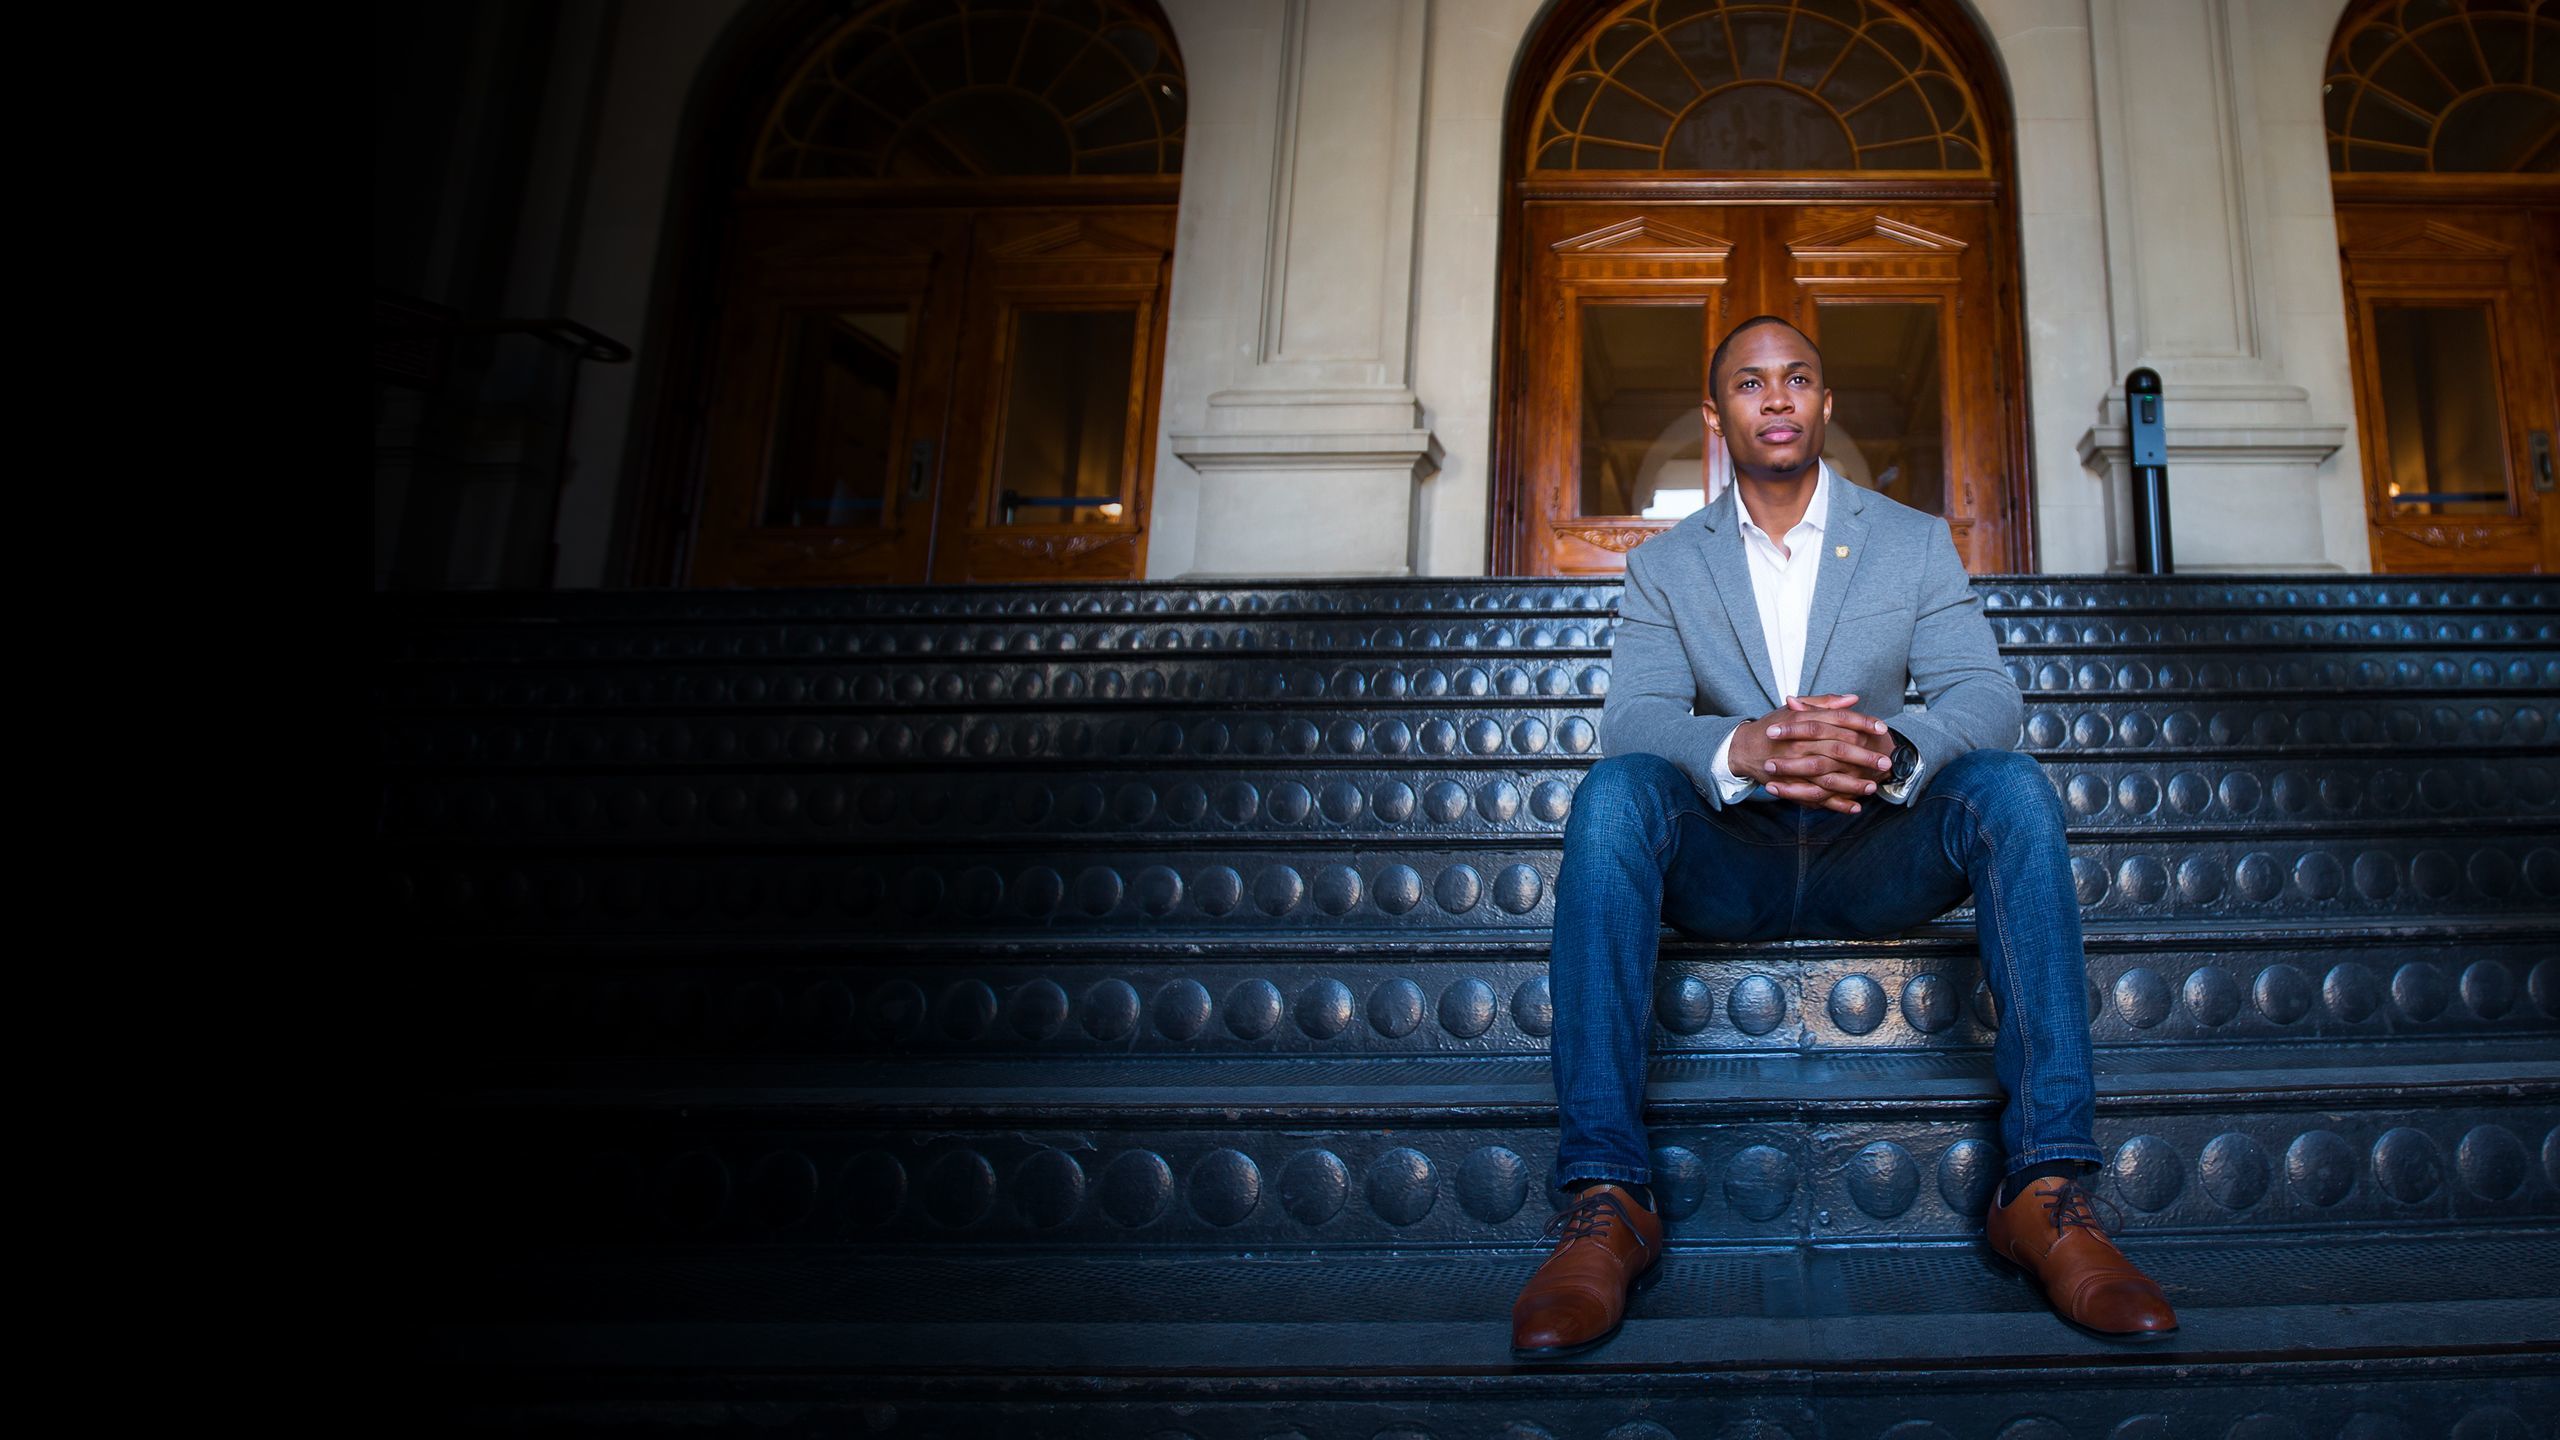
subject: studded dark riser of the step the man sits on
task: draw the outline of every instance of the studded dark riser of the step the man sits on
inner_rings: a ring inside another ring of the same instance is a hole
[[[2378,1058],[2429,1038],[2560,1033],[2560,917],[2481,925],[2458,948],[2401,928],[2194,935],[2089,933],[2099,1051],[2337,1040]],[[430,1033],[525,1056],[1318,1056],[1546,1053],[1546,940],[1510,948],[1316,953],[1106,945],[1009,956],[760,951],[712,943],[568,953],[556,945],[420,956],[438,976]],[[1984,1053],[1997,1007],[1969,930],[1902,940],[1710,945],[1664,940],[1656,1051]],[[2378,1048],[2376,1048],[2378,1045]]]

